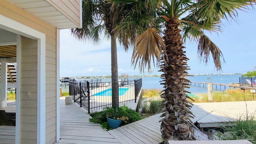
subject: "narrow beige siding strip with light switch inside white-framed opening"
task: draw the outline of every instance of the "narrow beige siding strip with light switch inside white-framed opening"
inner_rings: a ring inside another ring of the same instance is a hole
[[[20,143],[36,143],[37,40],[22,36],[20,62]],[[30,97],[27,97],[30,92]]]

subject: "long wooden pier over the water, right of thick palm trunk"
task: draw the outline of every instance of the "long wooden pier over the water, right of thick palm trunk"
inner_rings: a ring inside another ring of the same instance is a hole
[[[240,86],[240,84],[219,84],[219,83],[212,83],[212,82],[189,82],[188,84],[192,85],[194,84],[194,86],[203,86],[203,87],[207,87],[207,84],[212,84],[212,86],[215,85],[216,89],[218,89],[218,87],[221,90],[221,86],[224,86],[224,90],[226,90],[226,86],[228,88],[239,88],[240,90],[256,90],[255,87],[252,86]]]

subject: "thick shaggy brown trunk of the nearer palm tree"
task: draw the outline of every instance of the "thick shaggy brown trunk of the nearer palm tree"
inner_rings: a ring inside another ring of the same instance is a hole
[[[185,51],[181,41],[180,29],[178,28],[179,22],[176,18],[169,20],[165,24],[164,44],[166,46],[167,55],[162,56],[162,65],[160,70],[164,72],[161,75],[161,83],[164,85],[164,93],[161,97],[165,99],[163,102],[164,112],[160,117],[162,120],[161,132],[163,141],[168,139],[172,140],[192,140],[194,139],[193,129],[190,128],[192,112],[190,108],[192,104],[186,99],[189,98],[184,90],[188,88],[186,82],[190,82],[185,78],[188,76],[187,60]]]

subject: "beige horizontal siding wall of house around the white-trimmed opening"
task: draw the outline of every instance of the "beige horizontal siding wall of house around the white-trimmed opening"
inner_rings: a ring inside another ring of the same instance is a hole
[[[56,142],[57,29],[7,0],[1,0],[0,14],[46,34],[46,144],[53,144]],[[37,118],[37,40],[22,37],[21,61],[20,142],[33,144]],[[26,92],[31,92],[30,98]]]

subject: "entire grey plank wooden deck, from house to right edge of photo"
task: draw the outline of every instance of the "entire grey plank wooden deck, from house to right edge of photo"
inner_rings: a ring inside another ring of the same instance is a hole
[[[256,101],[248,101],[248,114],[256,111]],[[223,126],[246,111],[245,102],[194,103],[192,121],[200,128]],[[8,106],[13,109],[14,106]],[[6,108],[6,110],[8,109]],[[89,122],[90,116],[78,104],[66,105],[60,100],[60,140],[55,144],[158,144],[160,114],[106,131],[100,124]],[[15,127],[0,126],[0,144],[14,144]],[[230,143],[231,144],[231,143]]]

